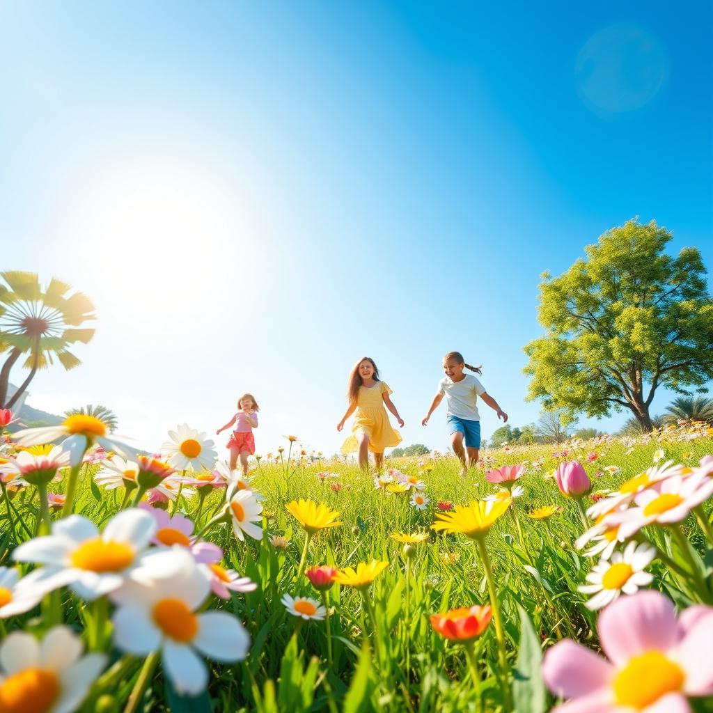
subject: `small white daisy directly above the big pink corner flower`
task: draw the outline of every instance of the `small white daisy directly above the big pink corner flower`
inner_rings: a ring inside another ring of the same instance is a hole
[[[656,556],[656,549],[647,543],[630,542],[622,552],[615,552],[611,561],[602,558],[587,575],[591,584],[578,590],[594,596],[587,602],[593,611],[613,602],[620,594],[635,594],[640,587],[649,585],[653,575],[643,570]]]

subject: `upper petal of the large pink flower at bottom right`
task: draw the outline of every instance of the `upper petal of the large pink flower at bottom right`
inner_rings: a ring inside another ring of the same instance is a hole
[[[601,613],[597,630],[602,650],[617,668],[651,649],[666,652],[679,639],[673,605],[655,591],[613,602]]]

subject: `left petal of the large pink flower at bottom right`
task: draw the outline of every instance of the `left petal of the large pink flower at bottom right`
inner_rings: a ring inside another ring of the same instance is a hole
[[[614,667],[590,649],[565,639],[546,654],[542,667],[547,687],[563,698],[578,698],[610,684]]]

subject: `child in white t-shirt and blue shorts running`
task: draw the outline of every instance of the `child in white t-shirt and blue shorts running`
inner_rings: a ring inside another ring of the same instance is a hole
[[[497,412],[498,419],[503,419],[503,422],[508,420],[508,414],[498,406],[492,396],[488,396],[485,386],[472,374],[463,374],[463,369],[470,369],[476,374],[482,373],[480,366],[466,364],[461,352],[448,352],[443,357],[446,377],[438,382],[438,394],[434,396],[426,418],[421,421],[421,425],[426,426],[431,414],[443,401],[443,396],[446,396],[446,421],[451,429],[453,452],[461,461],[461,476],[465,476],[468,468],[478,463],[478,448],[481,447],[481,417],[476,403],[478,396]],[[466,451],[463,451],[463,440],[466,441],[467,455]]]

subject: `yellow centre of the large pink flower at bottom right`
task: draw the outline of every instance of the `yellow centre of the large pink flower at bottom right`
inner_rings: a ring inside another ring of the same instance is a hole
[[[642,710],[667,693],[679,691],[684,672],[660,651],[633,657],[614,679],[617,704]]]

